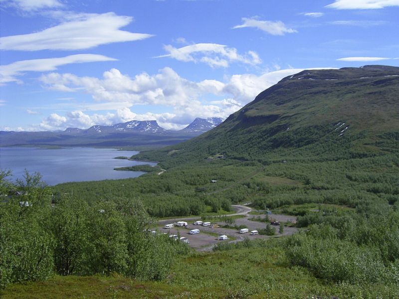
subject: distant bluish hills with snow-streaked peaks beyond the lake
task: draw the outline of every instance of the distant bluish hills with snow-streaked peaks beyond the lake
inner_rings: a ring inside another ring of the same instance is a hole
[[[0,146],[95,146],[159,148],[173,145],[209,131],[221,118],[196,118],[180,131],[165,130],[157,121],[129,121],[112,126],[95,125],[89,129],[67,128],[58,132],[0,131]]]

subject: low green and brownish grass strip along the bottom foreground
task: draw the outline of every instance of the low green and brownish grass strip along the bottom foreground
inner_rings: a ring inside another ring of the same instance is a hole
[[[395,286],[331,284],[302,267],[288,267],[277,246],[282,239],[251,241],[248,248],[192,253],[167,279],[142,282],[121,276],[55,276],[45,282],[14,284],[2,299],[61,298],[398,298]]]

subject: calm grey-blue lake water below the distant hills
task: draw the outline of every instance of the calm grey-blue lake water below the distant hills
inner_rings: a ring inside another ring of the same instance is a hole
[[[114,159],[117,156],[130,157],[135,153],[137,151],[93,148],[0,148],[0,168],[12,171],[11,180],[22,178],[25,168],[29,173],[38,171],[49,185],[71,181],[128,178],[137,177],[143,172],[118,171],[114,168],[155,164]]]

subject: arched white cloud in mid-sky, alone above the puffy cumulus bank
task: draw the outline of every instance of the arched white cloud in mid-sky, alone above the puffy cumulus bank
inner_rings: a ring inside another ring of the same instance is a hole
[[[169,53],[157,56],[171,57],[184,62],[203,62],[211,67],[228,67],[229,63],[241,62],[245,64],[260,64],[262,61],[254,51],[248,51],[243,55],[237,53],[236,48],[229,48],[226,45],[215,43],[197,43],[182,48],[175,48],[172,45],[164,46]]]

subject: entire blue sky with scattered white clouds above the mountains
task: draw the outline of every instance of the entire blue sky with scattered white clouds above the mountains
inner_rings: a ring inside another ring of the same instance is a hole
[[[399,66],[399,0],[0,0],[0,130],[226,118],[304,69]]]

